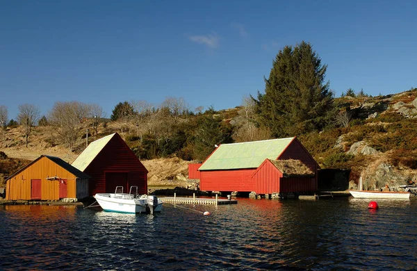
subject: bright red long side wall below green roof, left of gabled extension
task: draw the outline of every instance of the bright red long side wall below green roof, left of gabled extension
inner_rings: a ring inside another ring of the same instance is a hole
[[[200,187],[203,191],[252,192],[254,183],[250,177],[254,169],[202,171]]]

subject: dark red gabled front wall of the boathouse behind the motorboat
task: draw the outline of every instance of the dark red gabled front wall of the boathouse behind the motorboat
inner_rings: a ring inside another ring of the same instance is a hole
[[[147,170],[118,134],[111,138],[84,170],[84,173],[91,177],[90,196],[106,192],[106,172],[128,174],[127,186],[129,187],[125,188],[127,192],[130,186],[138,186],[140,194],[147,193]],[[117,182],[115,184],[117,185]],[[124,181],[120,182],[120,186],[125,185]]]

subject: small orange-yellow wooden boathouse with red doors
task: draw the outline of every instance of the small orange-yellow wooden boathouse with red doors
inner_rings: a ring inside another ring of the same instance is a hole
[[[40,156],[6,180],[8,200],[81,199],[87,196],[88,178],[78,178],[46,156]]]

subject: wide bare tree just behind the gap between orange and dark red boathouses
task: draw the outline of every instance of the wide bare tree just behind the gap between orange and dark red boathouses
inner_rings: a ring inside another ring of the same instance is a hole
[[[79,133],[90,112],[88,104],[79,101],[57,101],[49,113],[50,123],[56,126],[58,135],[73,151]]]

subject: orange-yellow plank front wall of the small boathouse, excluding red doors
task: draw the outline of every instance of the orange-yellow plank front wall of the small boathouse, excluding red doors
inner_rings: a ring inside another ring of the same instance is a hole
[[[31,182],[40,179],[40,199],[56,200],[59,197],[59,179],[48,180],[48,177],[57,176],[67,179],[67,197],[76,197],[76,176],[68,172],[60,165],[57,165],[47,157],[41,157],[32,165],[24,168],[21,172],[8,179],[6,185],[6,199],[8,200],[30,200]]]

